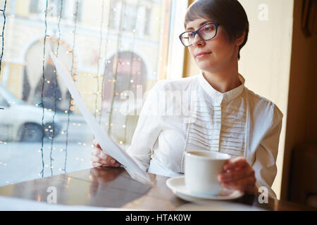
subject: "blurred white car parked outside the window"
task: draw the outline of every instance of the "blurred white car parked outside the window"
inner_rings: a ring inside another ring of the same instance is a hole
[[[7,89],[0,85],[0,141],[42,141],[44,138],[59,134],[61,124],[54,112],[44,110],[42,127],[42,107],[27,105],[15,98]]]

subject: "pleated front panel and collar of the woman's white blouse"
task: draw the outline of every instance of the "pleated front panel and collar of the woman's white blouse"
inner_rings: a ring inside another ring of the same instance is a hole
[[[197,98],[195,120],[189,124],[187,150],[203,149],[244,155],[247,131],[247,105],[241,98],[244,79],[236,89],[220,93],[199,75],[205,93]]]

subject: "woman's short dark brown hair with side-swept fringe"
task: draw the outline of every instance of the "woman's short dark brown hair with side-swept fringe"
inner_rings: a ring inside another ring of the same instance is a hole
[[[184,25],[197,18],[206,18],[219,23],[228,33],[228,41],[232,43],[245,31],[243,43],[239,46],[240,50],[247,43],[249,35],[249,20],[243,6],[237,0],[197,0],[194,1],[185,15]]]

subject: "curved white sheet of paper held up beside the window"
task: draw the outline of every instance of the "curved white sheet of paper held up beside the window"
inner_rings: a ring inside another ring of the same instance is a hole
[[[80,109],[82,116],[85,118],[87,124],[92,130],[92,133],[101,146],[101,149],[106,154],[111,155],[112,158],[115,158],[118,162],[120,162],[120,164],[123,165],[125,169],[127,169],[128,173],[133,179],[144,181],[147,184],[153,186],[153,182],[151,181],[149,174],[141,169],[137,162],[130,155],[128,155],[128,153],[125,153],[125,150],[118,146],[118,144],[114,142],[108,136],[108,134],[106,134],[106,131],[104,131],[104,129],[102,129],[94,119],[94,116],[92,113],[90,113],[84,101],[82,100],[82,97],[75,86],[75,82],[73,81],[73,77],[70,75],[66,65],[64,65],[61,60],[56,58],[52,51],[50,51],[50,56],[55,65],[56,72],[62,77],[63,82],[65,82],[66,86],[68,87],[68,91],[75,100],[77,107]]]

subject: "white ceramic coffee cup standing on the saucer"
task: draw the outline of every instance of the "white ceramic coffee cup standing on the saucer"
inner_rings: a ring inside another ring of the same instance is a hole
[[[211,150],[190,150],[185,153],[185,186],[191,193],[218,195],[223,186],[218,174],[230,155]]]

